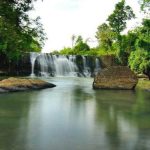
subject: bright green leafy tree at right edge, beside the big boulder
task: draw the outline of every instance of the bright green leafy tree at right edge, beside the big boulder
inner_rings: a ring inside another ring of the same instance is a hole
[[[129,66],[138,73],[148,75],[150,79],[150,19],[144,19],[142,26],[135,31],[135,51],[130,54]]]

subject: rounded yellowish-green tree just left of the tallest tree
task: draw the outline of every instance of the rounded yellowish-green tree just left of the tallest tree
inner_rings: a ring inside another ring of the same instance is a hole
[[[114,32],[106,23],[103,23],[100,26],[98,26],[96,38],[98,40],[99,47],[104,49],[106,52],[108,50],[112,50]]]

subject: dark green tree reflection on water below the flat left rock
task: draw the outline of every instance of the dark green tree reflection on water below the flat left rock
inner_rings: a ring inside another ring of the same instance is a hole
[[[26,130],[20,135],[20,123],[28,115],[30,94],[22,92],[0,95],[0,149],[24,149]],[[23,128],[26,126],[22,125]]]

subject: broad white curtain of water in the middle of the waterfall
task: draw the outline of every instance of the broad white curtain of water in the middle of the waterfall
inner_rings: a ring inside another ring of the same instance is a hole
[[[56,56],[41,53],[37,58],[41,76],[77,76],[75,56]]]

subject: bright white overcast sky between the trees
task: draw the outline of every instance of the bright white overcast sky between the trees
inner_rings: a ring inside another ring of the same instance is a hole
[[[40,16],[48,40],[43,52],[71,47],[71,36],[81,35],[84,39],[95,39],[97,27],[104,23],[119,0],[39,0],[31,15]],[[126,0],[139,16],[138,0]],[[129,27],[137,25],[132,21]],[[89,42],[95,46],[96,42]]]

